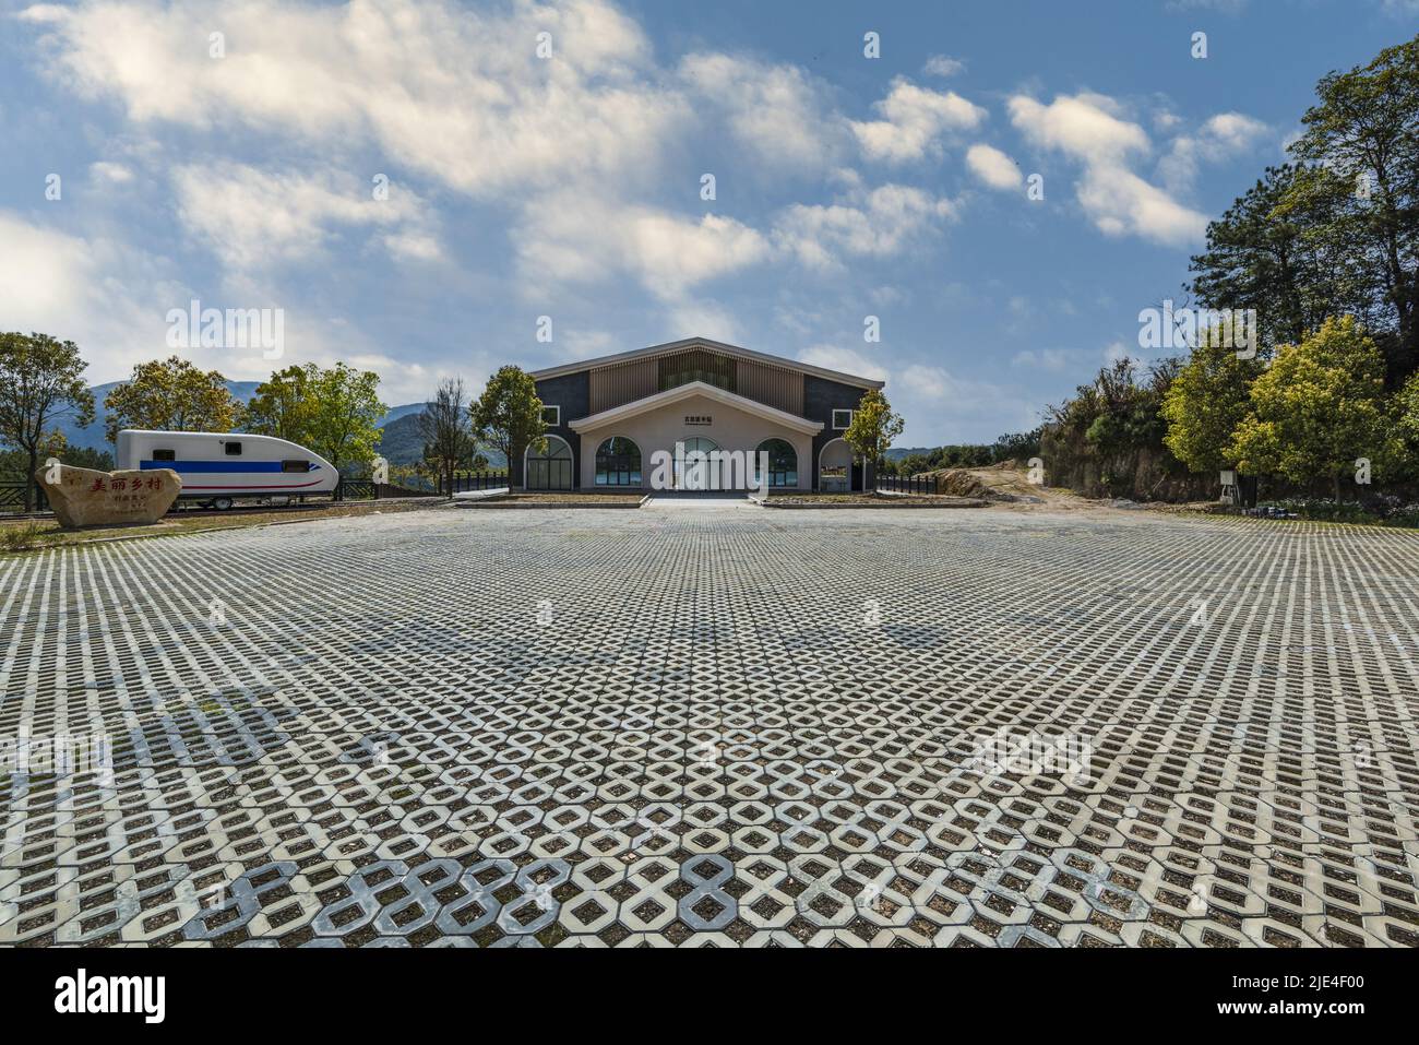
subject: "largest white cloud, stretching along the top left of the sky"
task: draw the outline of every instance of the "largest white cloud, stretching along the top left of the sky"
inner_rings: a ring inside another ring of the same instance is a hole
[[[653,177],[687,116],[640,27],[602,0],[514,0],[499,13],[430,0],[314,7],[138,0],[30,7],[48,70],[135,124],[248,126],[322,149],[368,145],[474,196],[568,169]],[[213,27],[224,58],[210,58]],[[534,54],[536,31],[555,57]],[[180,84],[180,89],[175,85]]]

